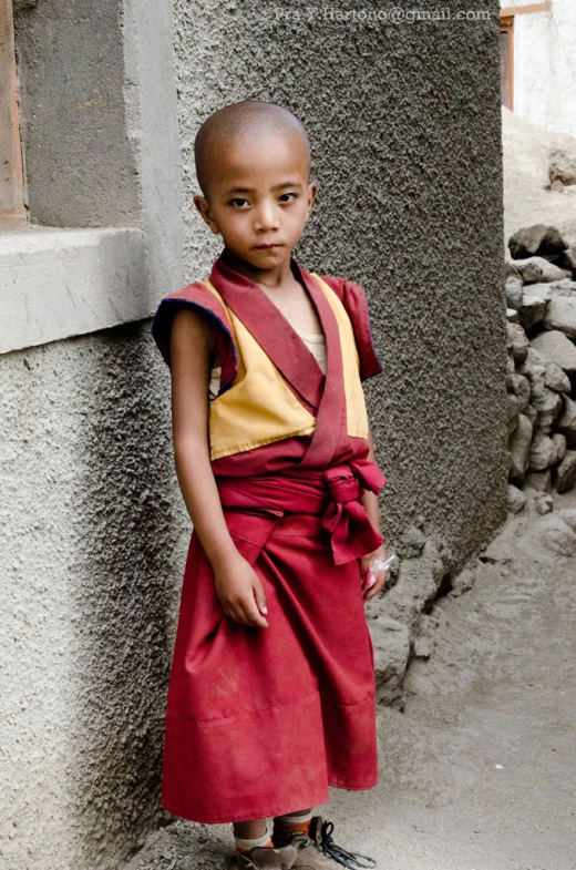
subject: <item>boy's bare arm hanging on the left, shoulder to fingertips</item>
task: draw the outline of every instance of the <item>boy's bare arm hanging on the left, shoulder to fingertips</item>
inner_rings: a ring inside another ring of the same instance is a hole
[[[227,616],[267,626],[264,588],[228,532],[210,465],[208,383],[212,334],[205,316],[181,309],[171,336],[172,431],[176,477],[186,509],[214,569],[216,592]]]

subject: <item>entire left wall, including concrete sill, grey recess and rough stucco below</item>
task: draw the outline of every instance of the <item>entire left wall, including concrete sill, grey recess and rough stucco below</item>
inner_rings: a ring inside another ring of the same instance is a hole
[[[0,864],[116,870],[164,816],[191,531],[142,320],[182,283],[172,10],[17,12],[30,222],[0,233]]]

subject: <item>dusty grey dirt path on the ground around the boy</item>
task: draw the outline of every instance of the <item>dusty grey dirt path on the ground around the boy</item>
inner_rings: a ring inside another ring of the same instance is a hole
[[[559,538],[515,521],[474,588],[436,604],[404,713],[379,715],[379,786],[319,808],[379,870],[576,870],[576,534]],[[228,826],[181,821],[130,870],[213,870],[230,846]]]

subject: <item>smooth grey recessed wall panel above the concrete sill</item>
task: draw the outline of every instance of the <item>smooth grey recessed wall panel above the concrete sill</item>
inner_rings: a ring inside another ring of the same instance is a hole
[[[121,11],[119,0],[42,0],[14,10],[24,170],[35,223],[138,223]]]

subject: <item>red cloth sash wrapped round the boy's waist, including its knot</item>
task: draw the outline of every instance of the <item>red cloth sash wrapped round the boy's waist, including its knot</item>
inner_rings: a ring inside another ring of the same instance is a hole
[[[263,544],[263,520],[267,519],[269,532],[280,532],[284,516],[294,514],[310,516],[311,523],[325,529],[330,535],[336,565],[371,553],[383,538],[366,512],[360,498],[364,490],[380,492],[385,478],[374,462],[356,459],[331,465],[325,471],[285,471],[251,478],[217,478],[220,501],[225,515],[241,513],[244,540]],[[258,522],[259,521],[259,522]],[[253,532],[250,531],[253,530]],[[230,529],[232,533],[232,529]]]

